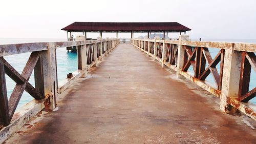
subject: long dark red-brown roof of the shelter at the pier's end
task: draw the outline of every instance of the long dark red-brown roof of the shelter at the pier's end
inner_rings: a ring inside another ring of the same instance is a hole
[[[191,29],[177,22],[150,23],[108,23],[75,22],[61,30],[73,32],[185,32]]]

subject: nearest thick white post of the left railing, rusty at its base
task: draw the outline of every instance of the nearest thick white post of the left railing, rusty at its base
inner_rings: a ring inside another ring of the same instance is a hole
[[[43,77],[44,77],[44,91],[45,96],[48,96],[45,109],[53,110],[57,106],[57,63],[56,63],[56,49],[54,43],[48,43],[48,50],[41,52]]]

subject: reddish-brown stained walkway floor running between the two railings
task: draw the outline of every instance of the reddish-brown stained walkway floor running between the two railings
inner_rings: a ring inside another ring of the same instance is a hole
[[[222,113],[218,98],[130,44],[66,93],[58,111],[39,113],[6,143],[256,142],[253,120]]]

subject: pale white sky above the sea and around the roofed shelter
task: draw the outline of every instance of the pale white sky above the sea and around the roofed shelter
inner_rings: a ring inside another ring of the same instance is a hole
[[[254,0],[8,0],[0,5],[0,38],[66,38],[60,29],[74,22],[178,22],[192,29],[186,33],[190,38],[256,39]],[[134,36],[140,35],[145,34]]]

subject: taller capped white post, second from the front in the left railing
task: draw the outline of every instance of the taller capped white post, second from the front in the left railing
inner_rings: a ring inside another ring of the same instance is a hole
[[[78,60],[78,70],[82,70],[82,76],[87,76],[87,55],[86,55],[86,37],[77,36],[76,40],[83,41],[84,45],[77,47],[77,60]]]

